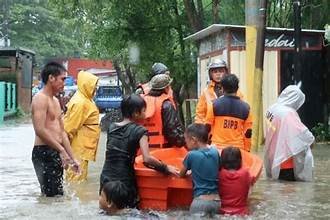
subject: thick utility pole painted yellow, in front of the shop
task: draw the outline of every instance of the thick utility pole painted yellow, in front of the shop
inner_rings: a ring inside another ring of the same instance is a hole
[[[247,101],[253,115],[252,149],[263,139],[262,82],[267,0],[245,0]]]

